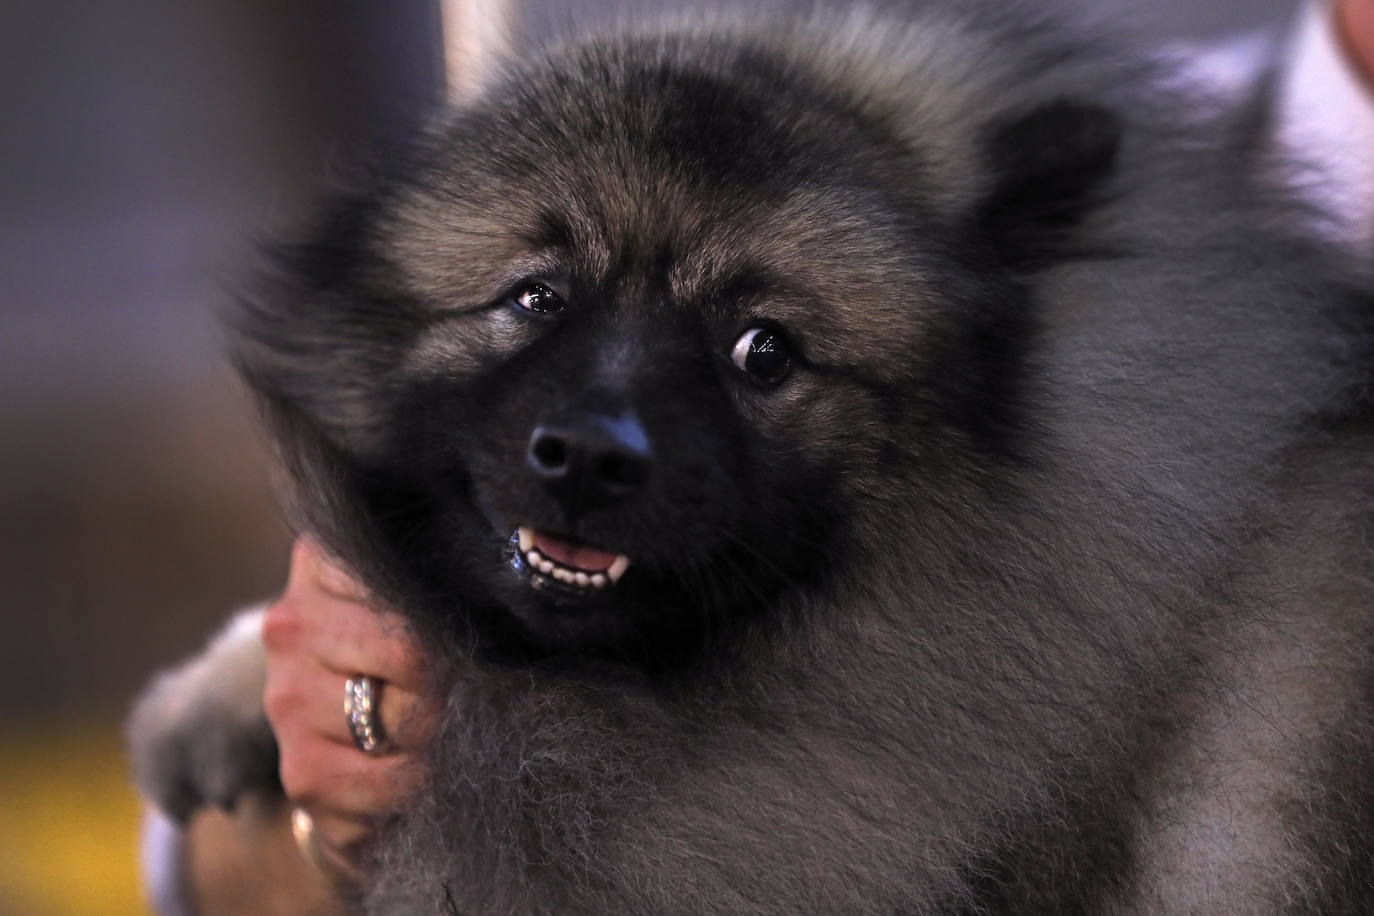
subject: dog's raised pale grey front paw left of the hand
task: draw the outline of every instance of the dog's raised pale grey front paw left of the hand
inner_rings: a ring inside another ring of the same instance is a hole
[[[177,821],[234,808],[245,791],[280,792],[276,740],[262,711],[262,611],[229,621],[203,652],[158,674],[129,717],[133,777]]]

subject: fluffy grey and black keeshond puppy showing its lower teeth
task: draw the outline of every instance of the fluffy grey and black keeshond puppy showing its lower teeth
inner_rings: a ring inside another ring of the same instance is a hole
[[[1165,76],[627,30],[284,250],[294,516],[448,685],[374,912],[1374,912],[1369,297]]]

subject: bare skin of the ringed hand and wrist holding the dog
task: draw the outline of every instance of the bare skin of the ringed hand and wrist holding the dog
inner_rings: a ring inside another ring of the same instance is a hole
[[[334,916],[350,912],[348,884],[365,878],[365,842],[419,777],[416,751],[437,703],[425,702],[419,654],[401,618],[372,602],[312,542],[291,551],[282,596],[264,617],[265,706],[280,748],[287,802],[249,795],[232,812],[206,808],[187,824],[184,887],[194,912]],[[382,681],[387,740],[376,755],[353,746],[344,680]],[[319,865],[301,856],[291,810],[312,816]]]

